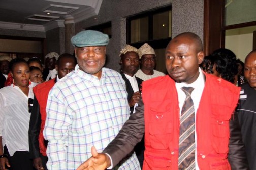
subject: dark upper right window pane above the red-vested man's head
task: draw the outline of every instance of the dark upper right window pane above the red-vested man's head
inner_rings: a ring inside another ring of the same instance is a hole
[[[172,11],[153,15],[153,39],[172,36]]]

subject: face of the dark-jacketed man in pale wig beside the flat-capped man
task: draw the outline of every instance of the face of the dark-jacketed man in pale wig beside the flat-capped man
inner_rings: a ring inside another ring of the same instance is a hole
[[[120,64],[122,65],[123,73],[131,77],[134,76],[140,65],[138,53],[131,51],[122,54]]]

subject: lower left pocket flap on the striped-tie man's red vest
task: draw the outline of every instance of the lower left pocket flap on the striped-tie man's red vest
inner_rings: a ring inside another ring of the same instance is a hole
[[[149,134],[158,135],[158,134],[172,134],[173,126],[171,123],[150,123],[149,125]]]

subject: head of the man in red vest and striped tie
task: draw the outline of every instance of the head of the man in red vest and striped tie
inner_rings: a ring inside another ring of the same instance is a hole
[[[176,82],[190,84],[199,76],[199,64],[204,54],[192,38],[178,36],[170,41],[166,48],[166,69]]]

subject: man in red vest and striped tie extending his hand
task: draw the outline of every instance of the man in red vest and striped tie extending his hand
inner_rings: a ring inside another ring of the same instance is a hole
[[[203,58],[198,35],[173,38],[165,53],[169,75],[142,83],[136,113],[103,153],[92,147],[92,157],[77,170],[111,168],[144,132],[143,170],[248,169],[237,117],[232,118],[240,88],[204,73]]]

